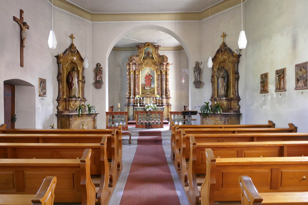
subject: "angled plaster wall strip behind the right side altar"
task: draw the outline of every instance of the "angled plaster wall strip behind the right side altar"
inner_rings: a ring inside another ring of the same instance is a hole
[[[234,52],[239,50],[238,48],[238,37],[241,31],[241,5],[234,6],[228,10],[225,10],[221,13],[213,15],[205,20],[201,21],[202,26],[202,82],[203,87],[200,92],[203,92],[202,101],[196,104],[196,107],[193,107],[194,110],[199,110],[202,104],[210,101],[212,95],[212,84],[211,84],[211,75],[212,69],[208,68],[207,61],[208,57],[214,57],[217,49],[222,43],[222,33],[225,32],[227,35],[225,37],[225,44]],[[243,3],[243,29],[245,30],[245,3]],[[251,44],[249,41],[248,44]],[[241,101],[239,102],[242,113],[240,121],[241,124],[247,124],[245,121],[245,50],[240,51],[241,57],[238,66],[239,72],[239,96]],[[200,88],[200,89],[201,89]],[[197,117],[198,120],[200,117]]]

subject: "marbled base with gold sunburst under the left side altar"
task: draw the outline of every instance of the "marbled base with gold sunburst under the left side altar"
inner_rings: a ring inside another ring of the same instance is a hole
[[[99,113],[77,113],[56,114],[58,129],[96,129],[96,116]]]

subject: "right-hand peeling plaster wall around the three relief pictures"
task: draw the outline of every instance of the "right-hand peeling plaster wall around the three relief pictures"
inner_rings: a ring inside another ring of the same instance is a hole
[[[308,61],[305,0],[246,2],[245,123],[276,127],[293,123],[308,132],[308,91],[294,90],[295,64]],[[286,92],[275,93],[275,70],[286,68]],[[269,73],[269,93],[260,94],[260,74]],[[245,98],[244,98],[245,97]]]

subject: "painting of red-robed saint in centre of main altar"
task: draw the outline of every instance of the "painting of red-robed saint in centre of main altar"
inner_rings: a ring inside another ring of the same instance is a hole
[[[155,95],[155,71],[150,67],[145,67],[140,75],[141,95]]]

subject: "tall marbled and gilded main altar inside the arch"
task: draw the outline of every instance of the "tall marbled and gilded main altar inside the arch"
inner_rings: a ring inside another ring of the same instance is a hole
[[[145,43],[136,45],[138,53],[128,58],[125,111],[129,120],[138,120],[134,108],[146,104],[163,107],[163,119],[169,120],[170,90],[168,57],[158,53],[160,45]],[[158,111],[157,111],[158,112]],[[162,112],[162,111],[159,111]]]

